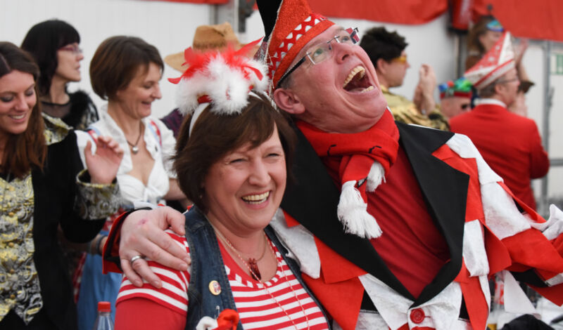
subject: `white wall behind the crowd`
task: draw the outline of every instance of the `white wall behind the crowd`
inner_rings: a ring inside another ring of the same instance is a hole
[[[82,88],[89,91],[96,105],[103,104],[94,93],[89,83],[89,62],[96,47],[107,37],[116,34],[128,34],[141,37],[155,45],[163,57],[182,51],[191,46],[193,34],[198,25],[211,24],[213,6],[201,4],[179,4],[166,1],[144,0],[0,0],[0,40],[21,44],[27,30],[37,22],[50,18],[68,21],[76,27],[82,38],[84,49],[82,61],[82,81],[71,84],[70,89]],[[407,71],[405,84],[393,88],[394,93],[412,97],[418,81],[417,69],[422,63],[434,67],[438,84],[455,77],[454,50],[455,38],[447,31],[448,16],[442,15],[424,25],[396,25],[370,22],[366,20],[333,19],[344,27],[358,27],[362,31],[375,25],[384,25],[397,30],[406,37],[408,60],[411,68]],[[241,42],[253,41],[262,37],[264,29],[260,15],[256,11],[246,22],[246,34],[239,35]],[[555,44],[555,51],[563,51],[563,44]],[[529,91],[526,104],[529,117],[536,120],[540,131],[543,120],[544,84],[544,49],[542,44],[531,42],[524,56],[524,65],[532,81],[536,82]],[[160,86],[163,99],[153,103],[153,113],[163,116],[175,107],[175,86],[166,80],[177,77],[177,72],[170,67],[165,73]],[[563,76],[551,76],[555,87],[552,115],[550,117],[550,156],[563,157],[563,133],[558,127],[563,122]],[[435,94],[438,100],[438,93]],[[544,132],[541,132],[544,133]],[[552,168],[549,178],[549,195],[563,198],[563,167]],[[536,194],[539,191],[535,183]]]

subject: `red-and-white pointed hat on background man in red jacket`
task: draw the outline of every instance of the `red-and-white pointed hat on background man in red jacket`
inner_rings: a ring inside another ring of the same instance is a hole
[[[464,77],[479,90],[512,68],[514,68],[514,50],[510,41],[510,32],[505,32],[495,46],[483,55],[476,65],[465,72]]]

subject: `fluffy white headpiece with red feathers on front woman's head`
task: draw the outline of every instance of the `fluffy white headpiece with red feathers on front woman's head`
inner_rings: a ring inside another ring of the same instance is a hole
[[[260,39],[246,44],[238,51],[232,45],[223,52],[199,53],[186,48],[186,62],[182,65],[188,68],[182,76],[168,80],[178,84],[176,101],[180,112],[194,113],[191,126],[209,103],[213,104],[211,112],[239,114],[248,105],[251,91],[266,91],[267,67],[247,56],[259,42]]]

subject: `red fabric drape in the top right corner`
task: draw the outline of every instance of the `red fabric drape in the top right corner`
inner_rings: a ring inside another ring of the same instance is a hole
[[[491,13],[516,37],[563,41],[562,0],[474,0],[473,17]]]

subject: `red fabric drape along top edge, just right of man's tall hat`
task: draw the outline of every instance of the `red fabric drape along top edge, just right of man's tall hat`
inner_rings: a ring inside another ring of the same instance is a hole
[[[448,10],[448,0],[309,0],[313,11],[334,18],[423,24]]]

